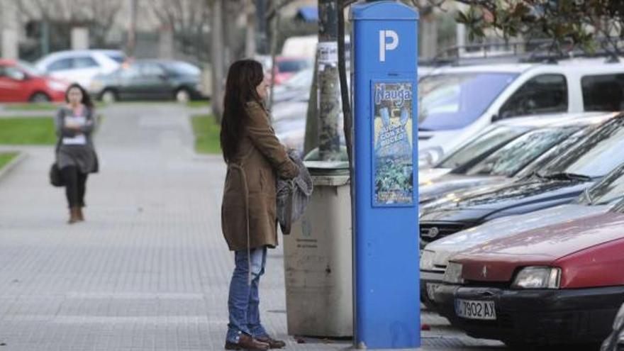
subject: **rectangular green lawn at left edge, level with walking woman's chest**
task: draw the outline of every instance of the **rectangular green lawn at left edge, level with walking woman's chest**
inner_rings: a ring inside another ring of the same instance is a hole
[[[0,144],[55,145],[51,117],[0,118]]]

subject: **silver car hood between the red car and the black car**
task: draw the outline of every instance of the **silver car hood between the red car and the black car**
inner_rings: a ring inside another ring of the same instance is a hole
[[[488,243],[494,239],[515,235],[526,230],[605,213],[609,208],[611,208],[611,205],[586,206],[567,204],[518,216],[496,218],[477,227],[462,230],[440,240],[435,240],[427,245],[425,250],[433,252],[433,262],[436,266],[446,267],[450,256],[470,247]]]

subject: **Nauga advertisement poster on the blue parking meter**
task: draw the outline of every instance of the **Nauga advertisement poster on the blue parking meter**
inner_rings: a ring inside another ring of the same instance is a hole
[[[375,82],[373,206],[413,205],[412,83]]]

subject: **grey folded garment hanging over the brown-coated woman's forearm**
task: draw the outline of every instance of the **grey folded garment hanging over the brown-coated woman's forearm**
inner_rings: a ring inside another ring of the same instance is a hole
[[[288,155],[299,167],[299,175],[294,179],[277,179],[277,221],[284,234],[290,234],[292,223],[301,218],[313,191],[312,177],[301,157],[295,150]]]

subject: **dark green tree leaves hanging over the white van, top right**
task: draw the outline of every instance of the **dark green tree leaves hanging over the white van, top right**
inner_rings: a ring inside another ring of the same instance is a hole
[[[431,1],[431,0],[430,0]],[[522,35],[553,40],[550,50],[567,52],[603,49],[618,53],[624,40],[624,1],[621,0],[458,0],[469,5],[457,14],[469,40],[498,30],[503,38]]]

